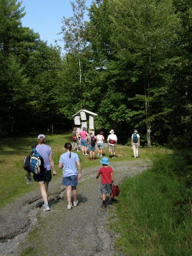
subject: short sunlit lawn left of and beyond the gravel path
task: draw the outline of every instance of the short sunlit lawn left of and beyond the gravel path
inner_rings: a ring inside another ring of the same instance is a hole
[[[58,179],[60,179],[62,172],[58,169],[58,160],[60,155],[64,152],[63,145],[66,142],[71,141],[71,134],[64,135],[48,135],[47,144],[52,147],[54,154],[54,162],[58,172]],[[23,159],[25,155],[28,155],[31,150],[31,146],[37,144],[37,139],[35,137],[27,138],[5,138],[1,139],[0,146],[0,208],[6,203],[14,201],[17,197],[28,193],[29,191],[37,188],[38,184],[33,182],[33,186],[26,184],[25,174],[26,171],[22,167]],[[150,157],[154,152],[159,152],[158,148],[152,148],[148,150],[147,148],[141,148],[140,158],[144,159]],[[97,152],[96,152],[97,153]],[[134,160],[132,155],[133,152],[130,146],[118,145],[116,148],[117,158],[113,161],[123,161],[123,160]],[[99,158],[96,156],[95,161],[90,161],[89,157],[82,156],[78,153],[81,160],[82,172],[83,168],[88,168],[90,166],[100,166]],[[97,154],[96,154],[97,155]],[[109,157],[110,153],[108,148],[103,151],[103,156]],[[53,180],[56,179],[53,177]]]

